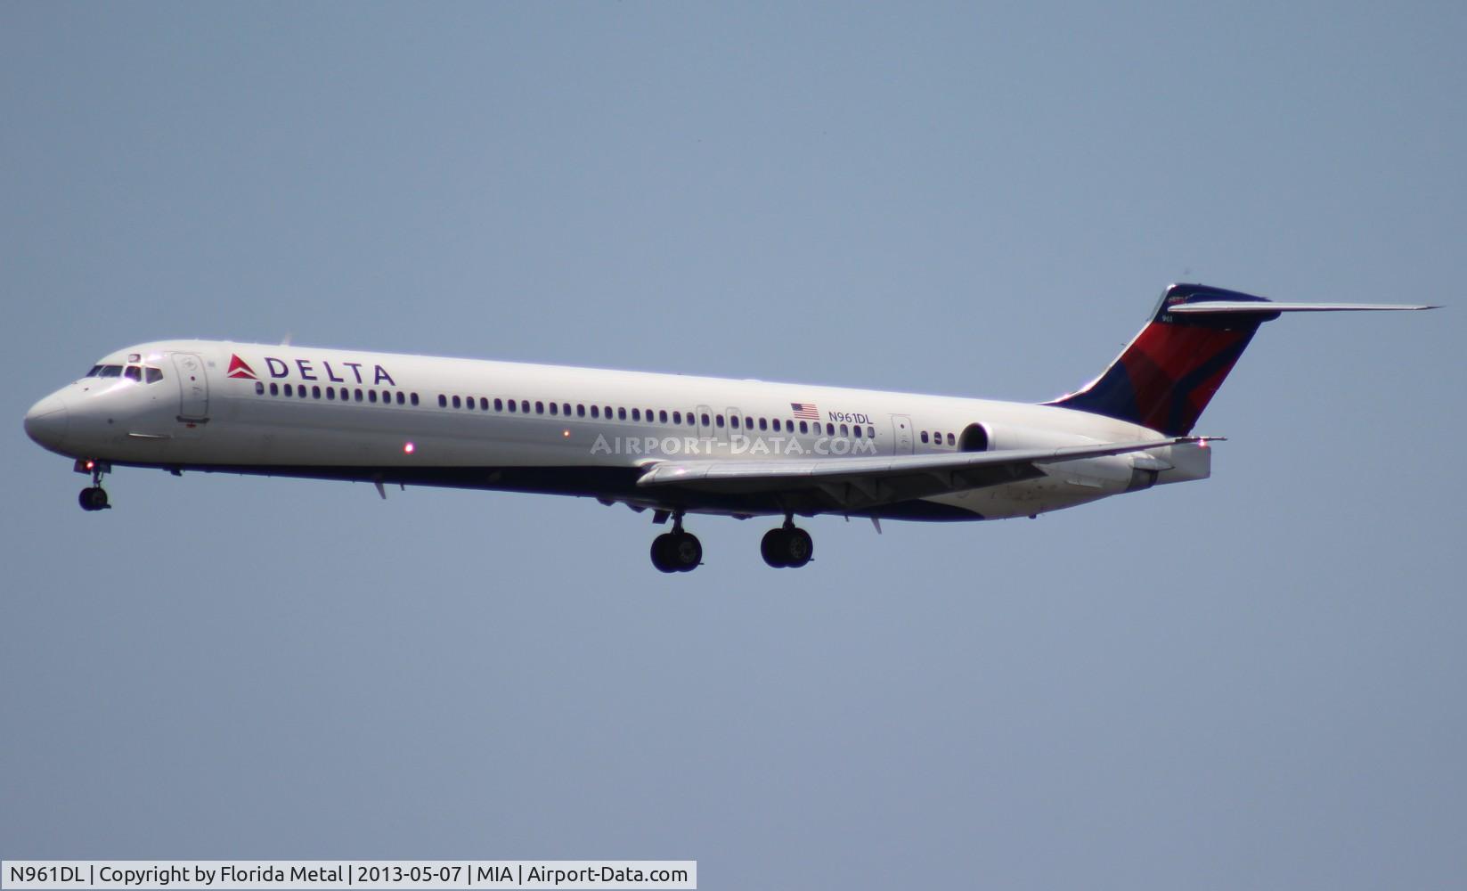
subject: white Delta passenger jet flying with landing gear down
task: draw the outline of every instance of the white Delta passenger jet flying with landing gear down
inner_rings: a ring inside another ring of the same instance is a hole
[[[1203,480],[1193,436],[1259,326],[1284,313],[1430,310],[1298,304],[1171,285],[1094,380],[1039,405],[318,349],[158,341],[100,358],[37,402],[26,434],[91,476],[116,467],[447,486],[596,498],[653,511],[663,572],[703,562],[687,514],[783,518],[775,568],[814,555],[795,517],[962,521],[1036,517]]]

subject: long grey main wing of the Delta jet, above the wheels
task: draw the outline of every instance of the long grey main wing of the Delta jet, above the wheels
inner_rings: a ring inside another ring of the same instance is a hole
[[[1045,474],[1045,464],[1144,452],[1174,445],[1200,445],[1207,436],[1137,439],[1061,449],[1005,449],[955,455],[874,455],[860,458],[775,458],[659,461],[637,484],[678,486],[698,492],[753,495],[810,492],[833,502],[830,509],[864,509],[965,489],[1015,483]]]

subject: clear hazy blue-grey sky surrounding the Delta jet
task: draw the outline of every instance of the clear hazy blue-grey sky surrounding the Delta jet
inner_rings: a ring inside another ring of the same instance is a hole
[[[1460,6],[0,10],[0,856],[697,859],[704,888],[1451,887]],[[169,336],[1046,399],[1160,289],[1294,317],[1213,479],[820,518],[122,471]]]

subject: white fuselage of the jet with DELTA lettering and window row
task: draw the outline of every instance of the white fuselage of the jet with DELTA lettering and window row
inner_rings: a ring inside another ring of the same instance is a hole
[[[1015,402],[220,341],[131,346],[98,368],[32,410],[28,430],[37,418],[32,436],[43,445],[176,471],[553,492],[734,515],[782,509],[758,498],[640,490],[635,480],[660,459],[923,455],[1157,436]],[[1196,446],[1067,461],[1039,479],[861,514],[1033,515],[1201,479],[1207,462],[1209,451]]]

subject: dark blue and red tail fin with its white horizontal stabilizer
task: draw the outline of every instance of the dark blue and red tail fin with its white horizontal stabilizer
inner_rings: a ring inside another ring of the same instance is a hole
[[[1187,436],[1253,333],[1281,313],[1430,308],[1435,307],[1282,304],[1206,285],[1172,285],[1152,320],[1100,377],[1045,405],[1131,421],[1166,436]]]

